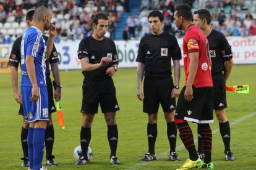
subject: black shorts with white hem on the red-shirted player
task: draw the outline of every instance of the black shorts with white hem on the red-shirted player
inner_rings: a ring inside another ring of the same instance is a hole
[[[213,123],[213,87],[192,88],[194,99],[191,102],[187,102],[184,97],[186,86],[182,88],[174,118],[195,123]]]

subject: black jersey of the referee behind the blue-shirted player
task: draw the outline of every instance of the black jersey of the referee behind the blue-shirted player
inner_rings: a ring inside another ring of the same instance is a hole
[[[48,36],[43,35],[43,39],[45,39],[45,42],[48,41]],[[8,65],[12,65],[14,67],[19,67],[20,64],[20,46],[21,46],[22,36],[15,39],[14,44],[12,45],[12,51],[9,57]],[[51,51],[51,55],[49,57],[49,60],[46,60],[46,75],[50,75],[49,70],[49,63],[58,63],[59,57],[56,50],[56,47],[53,45],[53,50]]]

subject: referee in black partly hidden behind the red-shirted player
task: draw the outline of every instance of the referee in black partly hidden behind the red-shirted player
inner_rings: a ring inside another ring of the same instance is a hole
[[[211,55],[211,77],[213,79],[214,103],[213,108],[219,121],[220,133],[224,142],[224,155],[226,161],[234,161],[235,158],[230,149],[230,126],[226,116],[226,81],[233,67],[233,54],[226,37],[220,31],[211,29],[211,14],[207,9],[194,12],[194,23],[201,28],[208,38]],[[198,133],[198,155],[203,158],[201,135]]]

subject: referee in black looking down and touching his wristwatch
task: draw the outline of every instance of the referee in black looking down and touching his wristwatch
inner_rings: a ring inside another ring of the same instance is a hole
[[[81,112],[83,123],[80,132],[82,156],[75,165],[87,164],[87,150],[91,140],[91,127],[100,103],[108,125],[108,142],[110,146],[110,163],[119,164],[116,157],[118,131],[116,111],[119,105],[116,88],[111,78],[117,71],[118,58],[114,41],[106,38],[108,16],[96,14],[92,18],[93,34],[80,41],[77,51],[83,71],[83,100]]]

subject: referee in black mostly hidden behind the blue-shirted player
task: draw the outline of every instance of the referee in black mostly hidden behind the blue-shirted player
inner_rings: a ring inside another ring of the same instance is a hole
[[[26,22],[27,26],[30,27],[33,15],[35,13],[35,10],[28,11],[26,15]],[[45,41],[48,41],[48,36],[43,35],[43,38]],[[8,64],[11,66],[11,77],[12,77],[12,87],[14,90],[14,99],[17,103],[20,103],[20,110],[19,115],[23,116],[23,125],[22,125],[22,131],[21,131],[21,142],[22,142],[22,150],[23,150],[23,163],[21,164],[22,167],[29,167],[29,161],[28,161],[28,144],[27,144],[27,135],[28,135],[28,122],[25,121],[24,113],[23,113],[23,107],[22,107],[22,100],[20,96],[20,92],[18,89],[18,67],[20,64],[20,45],[22,41],[22,36],[15,39],[14,44],[12,46],[12,51],[9,57]],[[49,57],[49,60],[46,60],[46,84],[47,84],[47,91],[48,91],[48,102],[49,102],[49,121],[47,122],[47,127],[45,131],[45,148],[46,148],[46,164],[49,166],[56,166],[57,163],[53,160],[55,157],[52,155],[53,152],[53,144],[54,144],[54,128],[53,128],[53,121],[51,118],[51,113],[56,111],[56,107],[54,105],[53,101],[53,95],[54,99],[58,101],[61,99],[61,84],[59,81],[59,67],[58,67],[58,54],[56,51],[56,47],[53,46],[53,50],[51,51],[51,55]],[[54,91],[53,94],[53,84],[51,83],[50,78],[50,70],[49,65],[51,65],[51,70],[53,71],[53,77],[54,81],[57,84],[57,88]]]

